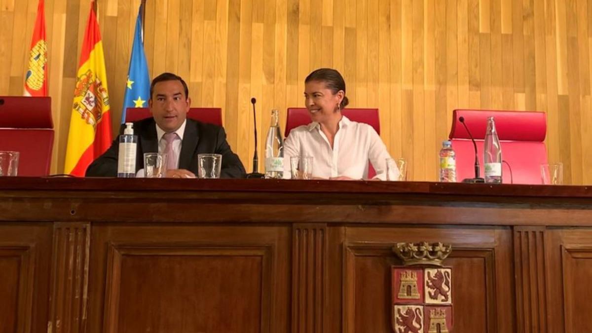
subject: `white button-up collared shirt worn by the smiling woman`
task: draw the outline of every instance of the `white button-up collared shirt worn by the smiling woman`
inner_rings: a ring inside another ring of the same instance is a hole
[[[291,178],[291,156],[313,156],[313,177],[346,176],[368,179],[368,161],[380,180],[387,178],[387,158],[391,158],[372,126],[342,116],[333,139],[333,149],[319,123],[292,129],[284,142],[284,178]]]

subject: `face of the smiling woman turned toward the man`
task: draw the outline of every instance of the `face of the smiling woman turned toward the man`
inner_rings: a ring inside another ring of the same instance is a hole
[[[323,123],[333,117],[341,117],[340,113],[335,111],[344,95],[342,90],[333,94],[323,81],[310,81],[304,85],[304,104],[311,119],[317,123]]]

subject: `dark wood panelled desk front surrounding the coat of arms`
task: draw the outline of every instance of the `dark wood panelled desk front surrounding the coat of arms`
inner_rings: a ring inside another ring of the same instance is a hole
[[[591,226],[588,187],[0,178],[0,332],[392,332],[417,241],[456,333],[590,332]]]

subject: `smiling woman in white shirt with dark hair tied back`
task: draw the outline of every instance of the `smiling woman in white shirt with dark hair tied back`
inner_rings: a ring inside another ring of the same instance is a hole
[[[386,180],[386,160],[391,156],[372,126],[349,120],[341,113],[348,105],[345,81],[339,72],[320,68],[304,81],[305,104],[313,120],[292,129],[284,142],[284,176],[290,176],[291,156],[313,156],[313,177],[331,180],[368,178]]]

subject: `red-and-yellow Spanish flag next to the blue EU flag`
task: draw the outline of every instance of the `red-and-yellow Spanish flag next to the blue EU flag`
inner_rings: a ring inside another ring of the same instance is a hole
[[[65,174],[83,177],[86,168],[111,144],[111,116],[105,57],[94,3],[88,16],[66,148]]]

